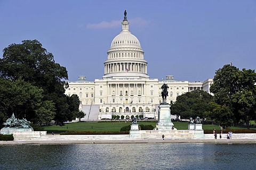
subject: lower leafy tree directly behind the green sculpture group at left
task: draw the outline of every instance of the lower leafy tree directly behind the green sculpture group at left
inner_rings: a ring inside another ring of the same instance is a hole
[[[42,89],[18,78],[4,80],[0,78],[0,115],[1,124],[14,113],[17,118],[33,120],[35,111],[42,102]]]

